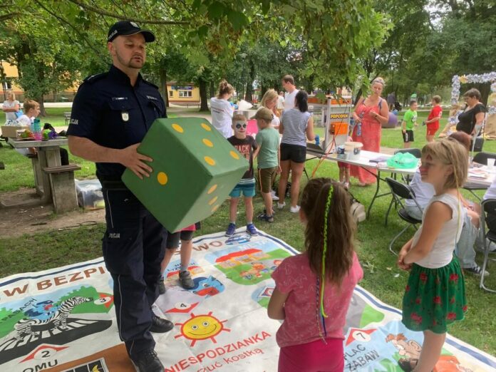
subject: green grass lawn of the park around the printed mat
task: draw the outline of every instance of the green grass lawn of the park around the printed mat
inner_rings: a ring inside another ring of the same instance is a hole
[[[425,141],[425,129],[419,128],[416,144],[420,146]],[[382,142],[388,147],[401,147],[401,132],[394,129],[383,130]],[[485,150],[496,152],[496,141],[487,141]],[[0,148],[0,160],[6,163],[7,168],[0,172],[0,191],[32,186],[31,165],[25,157],[4,147]],[[71,161],[83,166],[76,177],[93,176],[94,165],[91,162],[85,162],[81,159]],[[314,170],[316,164],[316,160],[306,163],[306,170],[309,174]],[[14,168],[15,170],[13,170]],[[337,176],[338,168],[333,162],[323,162],[316,172],[316,177]],[[306,178],[304,177],[302,181],[305,183]],[[383,189],[386,191],[386,187]],[[367,207],[374,190],[373,187],[352,187],[351,192]],[[388,244],[394,235],[403,228],[405,222],[402,222],[393,210],[388,226],[384,226],[384,217],[389,200],[388,197],[377,200],[373,206],[371,218],[358,226],[358,257],[365,272],[361,285],[371,291],[378,299],[401,309],[401,299],[408,274],[396,267],[396,256],[388,251]],[[255,213],[261,212],[262,209],[262,198],[257,196],[254,198]],[[202,229],[197,232],[197,235],[223,231],[227,227],[228,216],[228,204],[224,202],[215,215],[204,221]],[[244,222],[244,208],[241,207],[238,219],[239,226],[244,225]],[[297,216],[289,213],[289,210],[277,211],[275,221],[272,224],[256,222],[256,225],[259,229],[283,239],[296,249],[303,247],[303,227]],[[0,277],[60,267],[64,264],[100,257],[100,239],[104,229],[103,224],[97,224],[63,231],[25,235],[16,239],[2,236],[0,238]],[[399,249],[401,244],[410,239],[412,235],[413,229],[403,234],[403,239],[399,239],[396,249]],[[481,254],[478,254],[477,261],[481,262],[481,259]],[[492,264],[489,270],[492,273],[487,284],[496,287],[495,264]],[[478,282],[478,278],[467,275],[469,311],[465,321],[453,325],[450,328],[450,333],[487,353],[495,355],[496,317],[492,314],[492,310],[496,304],[496,297],[494,294],[488,294],[479,289]]]

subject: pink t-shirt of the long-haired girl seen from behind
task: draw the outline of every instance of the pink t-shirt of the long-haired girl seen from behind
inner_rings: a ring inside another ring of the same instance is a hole
[[[306,254],[284,259],[272,273],[276,288],[289,293],[284,304],[286,319],[277,331],[279,347],[301,345],[320,339],[317,324],[317,277],[311,271]],[[344,339],[343,328],[353,289],[363,278],[358,257],[353,253],[353,264],[339,288],[327,284],[324,293],[324,309],[327,338]]]

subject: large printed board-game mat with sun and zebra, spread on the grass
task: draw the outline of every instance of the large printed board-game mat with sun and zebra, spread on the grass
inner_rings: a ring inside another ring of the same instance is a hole
[[[179,256],[154,311],[174,322],[154,334],[165,372],[277,371],[279,321],[267,317],[271,273],[296,251],[261,232],[194,240],[195,288],[177,285]],[[103,259],[0,280],[0,371],[134,371],[120,342],[113,282]],[[401,311],[357,287],[346,318],[345,371],[402,371],[418,358],[422,334]],[[448,336],[435,371],[496,371],[496,358]]]

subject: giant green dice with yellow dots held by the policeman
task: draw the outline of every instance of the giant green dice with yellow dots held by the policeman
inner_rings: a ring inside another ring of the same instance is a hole
[[[249,162],[205,119],[157,119],[138,152],[153,159],[150,177],[122,180],[170,232],[212,215]]]

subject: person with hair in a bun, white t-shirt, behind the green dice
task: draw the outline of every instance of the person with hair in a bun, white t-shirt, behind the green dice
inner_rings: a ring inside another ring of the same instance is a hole
[[[217,97],[210,98],[210,113],[212,113],[212,125],[224,136],[232,136],[232,114],[234,108],[229,103],[234,88],[227,81],[222,80],[219,84],[219,94]]]

